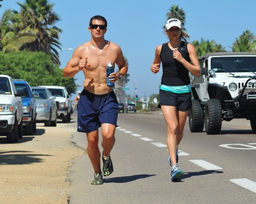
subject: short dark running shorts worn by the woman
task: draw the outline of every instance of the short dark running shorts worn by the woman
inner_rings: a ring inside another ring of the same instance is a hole
[[[158,108],[161,108],[161,105],[176,107],[178,111],[188,111],[191,108],[190,92],[178,94],[160,89],[159,98]]]

